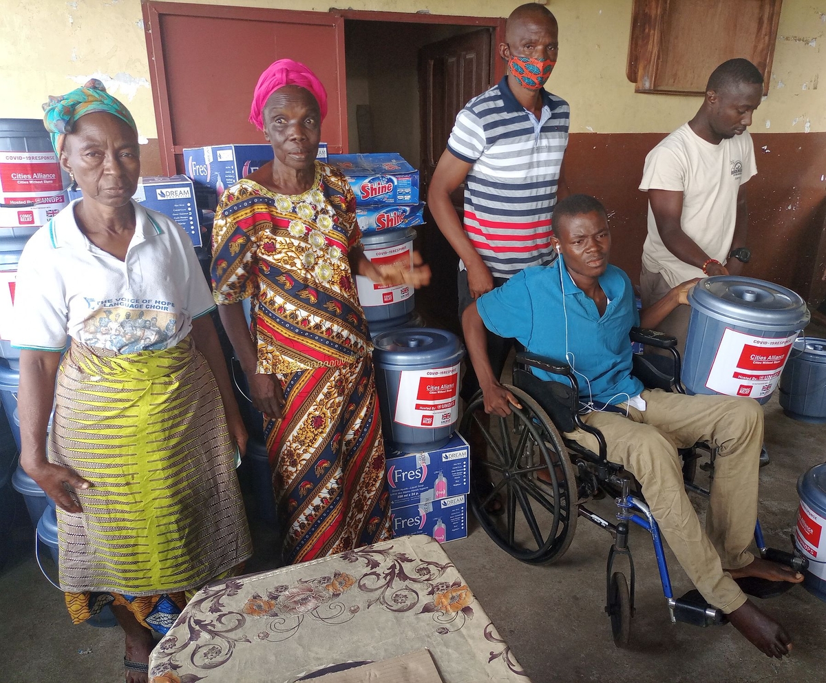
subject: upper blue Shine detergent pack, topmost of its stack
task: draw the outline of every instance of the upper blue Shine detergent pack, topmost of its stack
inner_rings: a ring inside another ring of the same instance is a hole
[[[419,203],[419,172],[401,154],[330,154],[353,187],[356,206]]]

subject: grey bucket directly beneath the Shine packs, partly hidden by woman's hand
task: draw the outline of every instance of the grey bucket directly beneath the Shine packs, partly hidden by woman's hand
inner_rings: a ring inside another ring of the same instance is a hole
[[[364,255],[373,263],[392,263],[401,258],[411,258],[415,230],[391,230],[362,235]],[[358,300],[369,323],[392,320],[410,315],[415,306],[415,296],[410,285],[385,287],[363,275],[356,276]]]

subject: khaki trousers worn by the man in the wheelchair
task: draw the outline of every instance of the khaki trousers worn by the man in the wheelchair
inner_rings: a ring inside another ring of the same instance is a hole
[[[757,521],[757,470],[763,441],[763,411],[747,398],[686,396],[660,389],[642,393],[640,411],[622,404],[628,417],[613,412],[583,416],[605,435],[608,459],[637,478],[663,538],[700,594],[726,614],[746,595],[726,569],[754,559],[748,547]],[[567,434],[596,451],[596,439],[577,430]],[[698,441],[719,448],[714,461],[705,531],[683,486],[677,448]]]

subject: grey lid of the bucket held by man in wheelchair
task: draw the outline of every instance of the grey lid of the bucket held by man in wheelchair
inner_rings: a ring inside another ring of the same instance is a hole
[[[795,292],[754,277],[706,277],[691,290],[689,303],[717,320],[760,330],[801,330],[811,317]]]

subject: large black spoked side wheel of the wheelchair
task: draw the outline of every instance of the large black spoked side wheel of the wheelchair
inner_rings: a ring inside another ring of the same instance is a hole
[[[530,564],[553,562],[577,528],[577,479],[545,411],[524,391],[504,386],[522,410],[512,408],[507,418],[487,415],[480,392],[459,427],[471,443],[471,507],[506,553]],[[481,443],[487,448],[478,448]],[[504,514],[491,510],[494,500],[500,500]]]

